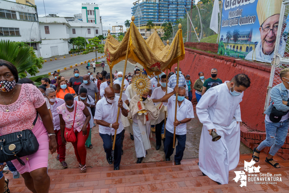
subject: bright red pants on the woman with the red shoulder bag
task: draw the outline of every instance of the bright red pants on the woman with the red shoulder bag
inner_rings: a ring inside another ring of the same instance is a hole
[[[86,148],[85,148],[85,142],[89,136],[89,124],[87,125],[87,134],[86,135],[82,135],[82,130],[80,132],[78,132],[77,130],[75,130],[75,135],[76,135],[76,139],[77,141],[72,143],[73,147],[74,147],[74,153],[76,156],[76,159],[78,161],[78,163],[81,163],[82,165],[85,165],[86,163]]]

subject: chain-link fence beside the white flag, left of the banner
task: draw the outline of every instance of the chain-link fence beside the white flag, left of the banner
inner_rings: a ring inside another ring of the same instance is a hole
[[[217,1],[217,0],[216,0]],[[222,1],[219,1],[220,14],[218,14],[219,33],[220,33],[220,15],[222,15]],[[211,16],[214,6],[214,0],[207,3],[198,3],[187,12],[183,19],[179,20],[182,24],[183,42],[207,42],[218,43],[218,34],[210,29]],[[188,17],[189,16],[189,17]],[[168,37],[170,43],[178,31],[178,23],[173,26]],[[166,40],[164,40],[165,43]]]

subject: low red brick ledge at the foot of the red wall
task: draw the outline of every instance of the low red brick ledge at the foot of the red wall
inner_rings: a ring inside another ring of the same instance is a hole
[[[266,139],[265,132],[251,132],[245,126],[240,127],[241,130],[241,142],[245,144],[248,148],[254,149],[258,147],[258,145]],[[270,151],[270,147],[264,148],[261,152],[265,152],[268,154]],[[277,154],[285,160],[289,160],[289,136],[286,137],[286,141],[284,145],[278,150]]]

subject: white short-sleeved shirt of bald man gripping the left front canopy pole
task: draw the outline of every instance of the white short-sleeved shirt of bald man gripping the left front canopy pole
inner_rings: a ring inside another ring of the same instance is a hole
[[[96,120],[103,120],[107,123],[115,123],[116,122],[116,117],[117,117],[117,104],[118,104],[118,100],[119,100],[119,96],[115,96],[114,98],[114,102],[112,104],[109,104],[106,101],[106,98],[103,97],[102,99],[100,99],[95,106],[95,115],[94,115],[94,119]],[[125,109],[126,107],[123,106]],[[122,113],[121,110],[119,113]],[[119,134],[122,132],[122,130],[124,129],[124,126],[122,125],[122,121],[118,118],[118,123],[119,123],[119,127],[117,129],[116,134]],[[102,125],[99,125],[99,133],[101,134],[108,134],[108,135],[114,135],[115,129],[114,128],[110,128],[110,127],[105,127]]]

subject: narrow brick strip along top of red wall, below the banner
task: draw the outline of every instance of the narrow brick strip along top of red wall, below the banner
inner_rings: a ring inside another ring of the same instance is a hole
[[[209,53],[209,52],[205,52],[205,51],[201,51],[201,50],[197,50],[197,49],[187,48],[187,47],[185,47],[185,50],[189,51],[189,53],[193,53],[194,52],[194,53],[197,53],[197,54],[210,56],[210,57],[213,57],[213,58],[218,58],[220,60],[226,60],[226,61],[229,61],[229,62],[232,62],[232,63],[236,63],[233,66],[236,66],[237,64],[239,64],[239,65],[244,65],[244,66],[248,66],[248,67],[264,70],[264,71],[267,71],[267,72],[271,72],[271,66],[266,64],[266,63],[252,62],[252,61],[243,60],[243,59],[240,59],[240,58],[237,59],[237,58],[233,58],[233,57],[229,57],[229,56],[222,56],[222,55]]]

